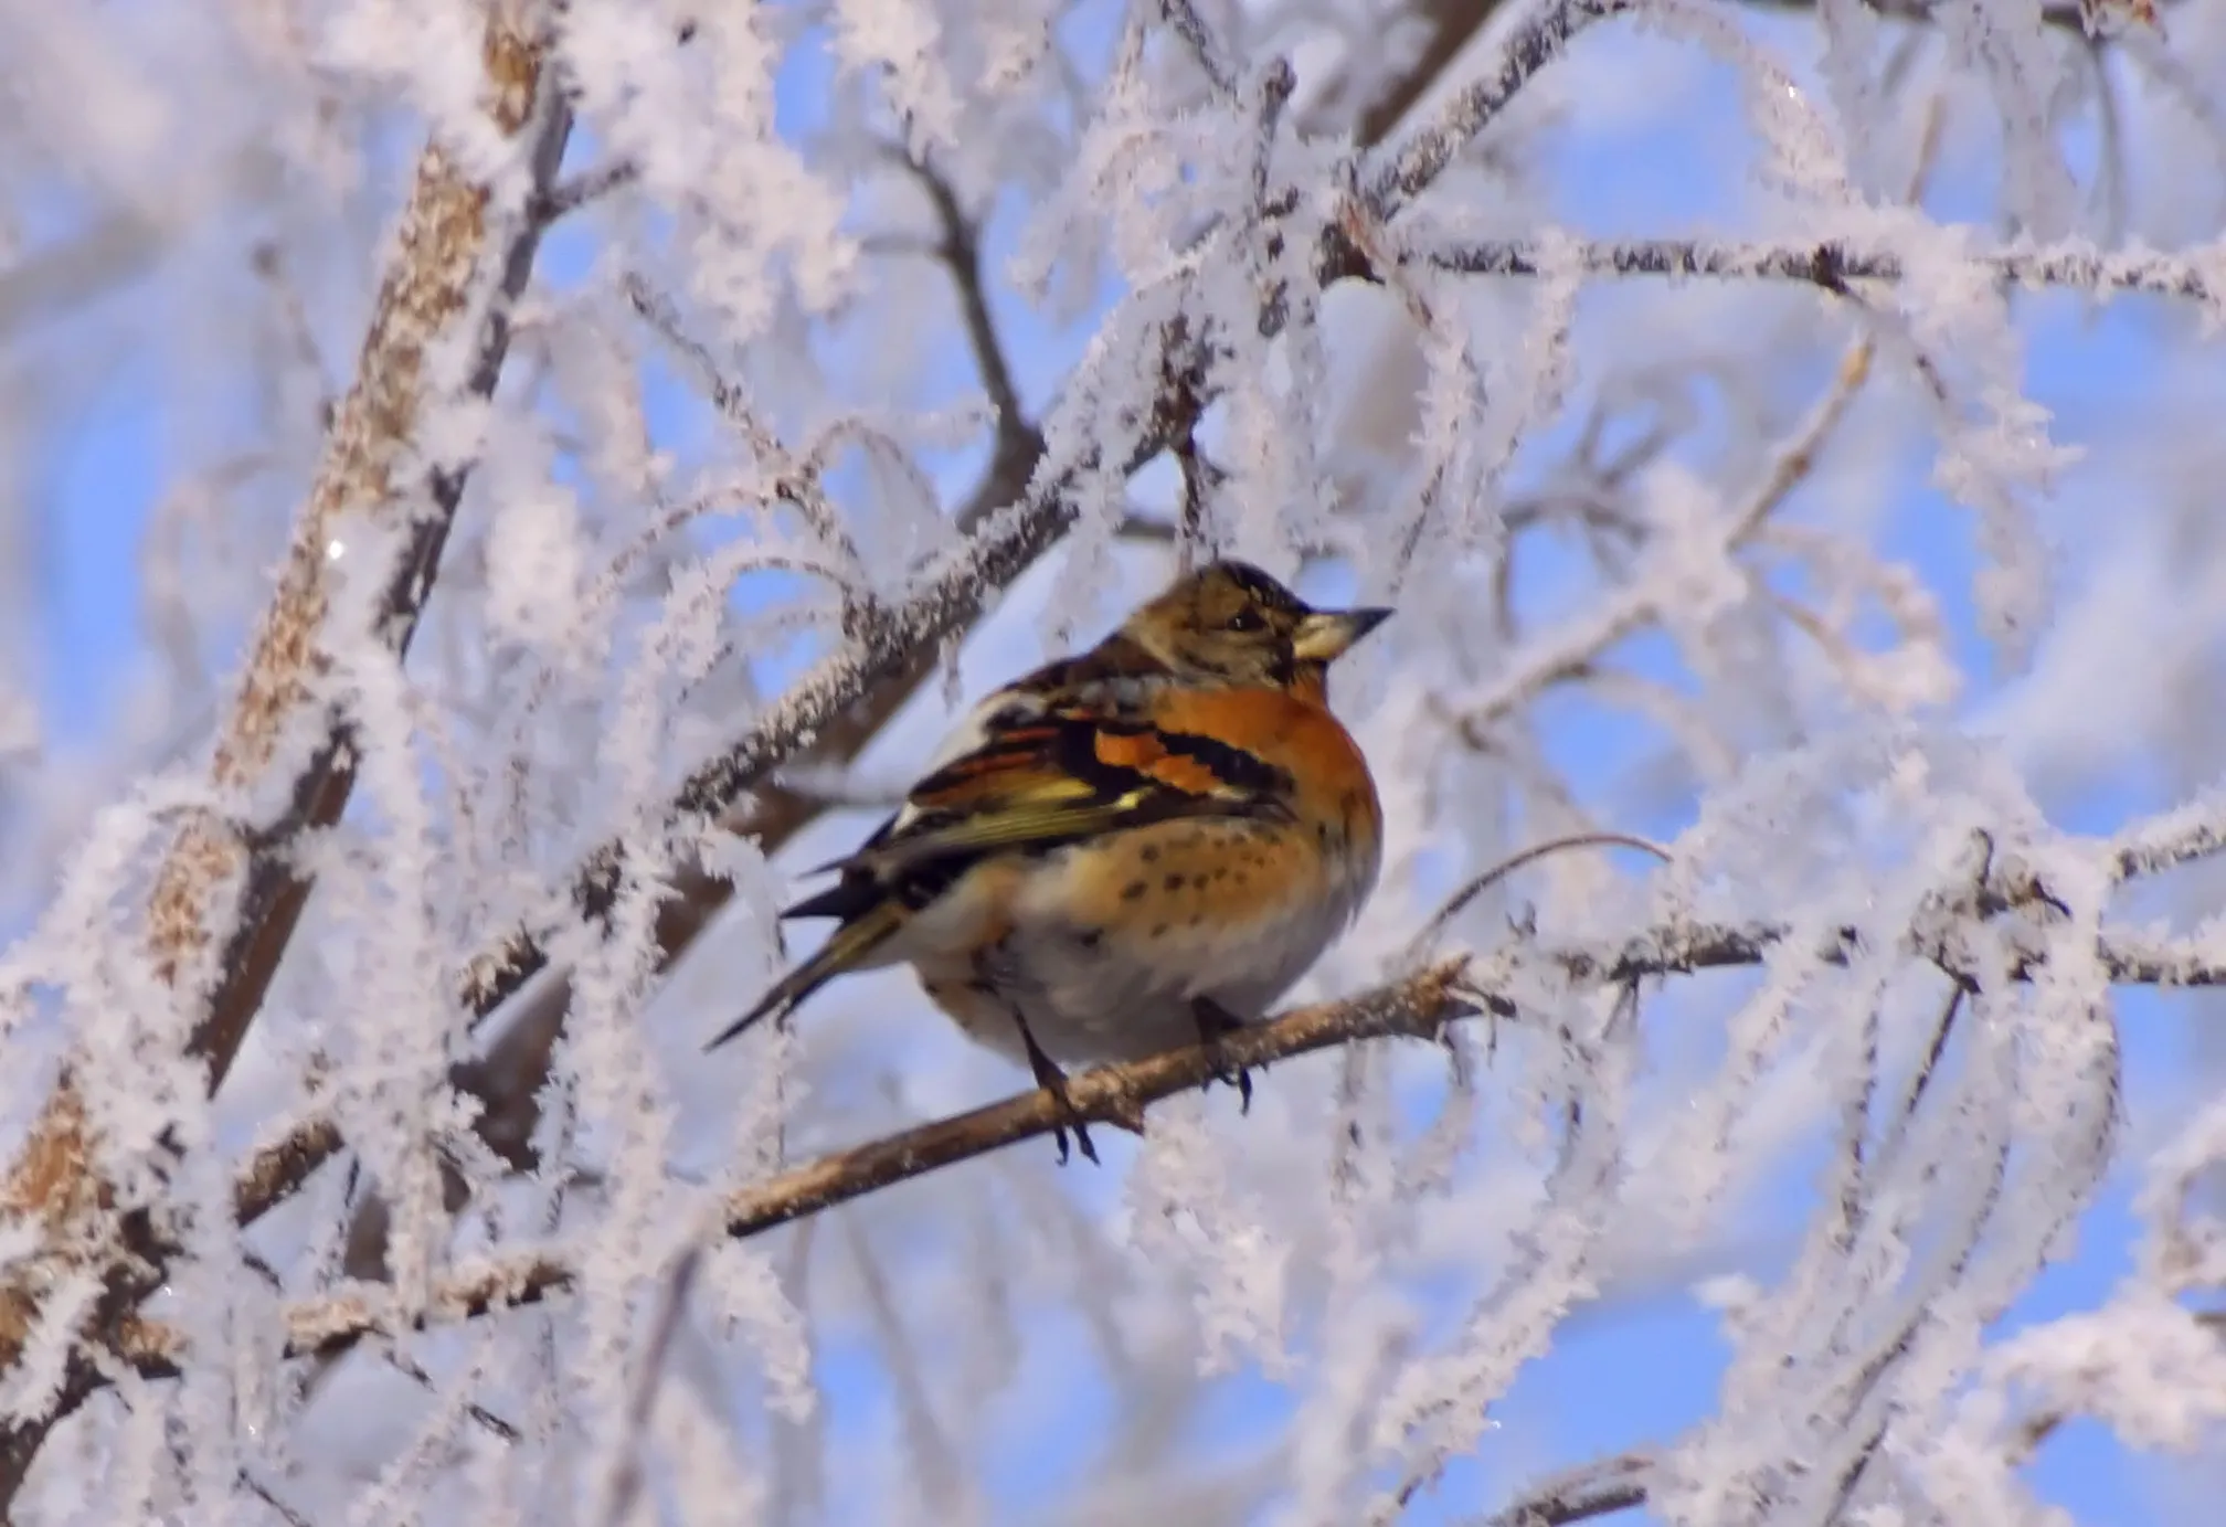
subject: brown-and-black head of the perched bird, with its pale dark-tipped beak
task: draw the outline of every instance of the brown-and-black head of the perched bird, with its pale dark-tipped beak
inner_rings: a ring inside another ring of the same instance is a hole
[[[1329,663],[1387,619],[1316,610],[1251,563],[1218,561],[1175,579],[1122,634],[1184,679],[1320,694]]]

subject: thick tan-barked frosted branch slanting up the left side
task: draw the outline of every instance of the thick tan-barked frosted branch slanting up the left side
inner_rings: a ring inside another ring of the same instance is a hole
[[[209,768],[236,821],[191,819],[156,877],[147,939],[189,1013],[187,1051],[207,1064],[214,1091],[287,950],[309,895],[292,850],[338,821],[356,755],[345,699],[332,690],[336,646],[376,641],[407,652],[463,496],[470,454],[436,441],[427,421],[494,392],[510,343],[510,305],[525,287],[539,243],[528,203],[563,156],[570,114],[545,73],[543,16],[496,7],[481,67],[483,109],[512,140],[514,187],[474,174],[434,140],[418,160],[396,247],[378,287],[354,385],[325,439],[325,454],[294,525],[278,588],[249,643],[245,672]],[[98,1057],[82,1057],[98,1066]],[[80,1077],[58,1082],[31,1142],[9,1171],[0,1202],[73,1242],[69,1260],[96,1251],[107,1231]],[[129,1235],[147,1253],[145,1231]],[[156,1278],[156,1282],[160,1282]],[[145,1271],[118,1275],[107,1320],[122,1318]],[[36,1300],[9,1287],[0,1320],[0,1369],[11,1367]],[[73,1369],[56,1411],[91,1382]],[[22,1480],[45,1425],[11,1429],[0,1500]]]

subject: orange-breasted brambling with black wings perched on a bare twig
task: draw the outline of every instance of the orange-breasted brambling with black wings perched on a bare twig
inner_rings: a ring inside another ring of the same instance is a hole
[[[1313,610],[1220,561],[997,690],[855,855],[815,870],[839,879],[781,917],[835,933],[712,1046],[899,962],[1062,1102],[1060,1062],[1258,1019],[1376,886],[1382,806],[1327,670],[1389,614]],[[1251,1102],[1251,1077],[1224,1080]],[[1064,1129],[1057,1146],[1064,1162]]]

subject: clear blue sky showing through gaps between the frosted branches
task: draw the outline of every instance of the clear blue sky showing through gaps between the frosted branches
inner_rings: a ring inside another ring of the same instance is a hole
[[[1093,24],[1111,11],[1100,7]],[[1790,27],[1772,27],[1774,38],[1794,38]],[[1594,36],[1587,49],[1647,47],[1661,56],[1667,42],[1632,45],[1625,38]],[[826,87],[826,60],[801,53],[784,78],[784,125],[799,127],[815,118],[819,91]],[[1690,85],[1690,80],[1687,80]],[[1681,114],[1672,131],[1661,125],[1614,134],[1578,134],[1556,165],[1556,214],[1594,231],[1681,231],[1707,227],[1730,216],[1741,198],[1739,169],[1696,171],[1741,140],[1739,100],[1725,89],[1683,89]],[[579,158],[579,156],[577,156]],[[1941,216],[1968,216],[1986,205],[1986,156],[1961,156],[1943,176],[1932,205]],[[993,256],[1011,249],[1017,209],[1006,205],[991,225]],[[550,269],[579,269],[583,249],[574,234],[561,234],[550,249]],[[999,260],[1002,263],[1002,260]],[[1022,303],[997,294],[997,318],[1022,378],[1024,394],[1040,403],[1051,383],[1071,363],[1084,329],[1053,329]],[[116,298],[116,307],[140,303],[138,316],[160,321],[136,294]],[[2070,441],[2108,443],[2130,412],[2157,385],[2159,334],[2173,318],[2159,303],[2119,303],[2086,309],[2070,298],[2021,298],[2028,334],[2028,387],[2050,405],[2059,434]],[[100,318],[93,314],[91,318]],[[327,365],[352,354],[354,336],[341,325],[329,329]],[[45,514],[42,583],[49,603],[42,610],[42,708],[49,737],[60,748],[93,748],[114,726],[114,710],[125,692],[134,659],[142,650],[136,612],[136,568],[118,548],[131,545],[145,525],[145,514],[169,481],[178,450],[162,427],[160,387],[167,378],[138,367],[118,367],[78,416],[78,430],[53,443],[42,463],[38,503]],[[966,387],[968,372],[953,365],[951,385]],[[1578,381],[1583,392],[1583,376]],[[681,427],[677,394],[654,423]],[[692,427],[692,421],[688,421]],[[1897,470],[1905,474],[1903,510],[1892,528],[1897,552],[1919,563],[1930,585],[1943,597],[1963,668],[1974,677],[1966,708],[1979,710],[1992,697],[1994,661],[1979,637],[1968,590],[1974,568],[1970,516],[1943,501],[1925,483],[1928,461],[1910,459]],[[1518,470],[1520,476],[1520,470]],[[951,479],[966,481],[953,465]],[[2070,499],[2086,496],[2108,503],[2108,483],[2075,479]],[[1616,759],[1625,752],[1627,732],[1583,708],[1563,708],[1554,719],[1554,748],[1580,792],[1594,799],[1618,784]],[[2128,775],[2099,786],[2084,786],[2048,808],[2057,821],[2075,830],[2108,830],[2130,815],[2159,806],[2161,784]],[[1645,833],[1674,833],[1683,826],[1678,812],[1665,810],[1658,821],[1621,824]],[[2173,1006],[2175,1011],[2166,1011]],[[2164,1095],[2193,1046],[2179,1013],[2184,1004],[2166,1004],[2150,995],[2128,995],[2121,1017],[2128,1037],[2128,1095],[2135,1100]],[[1785,1209],[1805,1209],[1787,1200]],[[2097,1302],[2128,1269],[2133,1231],[2128,1191],[2112,1182],[2110,1193],[2088,1215],[2079,1251],[2052,1269],[2012,1313],[2010,1324],[2046,1318],[2064,1309]],[[1037,1327],[1042,1340],[1071,1340]],[[1554,1356],[1527,1371],[1507,1405],[1503,1420],[1536,1442],[1549,1438],[1552,1451],[1567,1460],[1598,1451],[1638,1445],[1672,1434],[1712,1409],[1712,1387],[1723,1367],[1723,1349],[1714,1320],[1683,1298],[1623,1309],[1607,1320],[1580,1322],[1556,1344]],[[864,1425],[870,1405],[850,1396],[868,1389],[877,1367],[866,1353],[828,1356],[824,1378],[830,1385],[835,1413]],[[1224,1405],[1215,1429],[1229,1438],[1258,1436],[1273,1429],[1287,1407],[1287,1396],[1258,1376],[1235,1376],[1224,1385]],[[1494,1458],[1498,1434],[1487,1434],[1478,1458],[1460,1465],[1445,1489],[1414,1520],[1456,1520],[1480,1500],[1514,1482],[1505,1458]],[[1206,1440],[1202,1438],[1202,1445]],[[1026,1460],[991,1460],[991,1487],[1013,1505],[1022,1520],[1026,1500],[1046,1471],[1062,1467],[1055,1456],[1031,1451]],[[1534,1462],[1534,1458],[1529,1458]],[[1527,1469],[1525,1469],[1527,1471]],[[2175,1520],[2173,1500],[2155,1491],[2146,1460],[2128,1456],[2097,1427],[2075,1425],[2048,1442],[2032,1478],[2041,1494],[2070,1507],[2081,1523],[2097,1527],[2150,1527]]]

